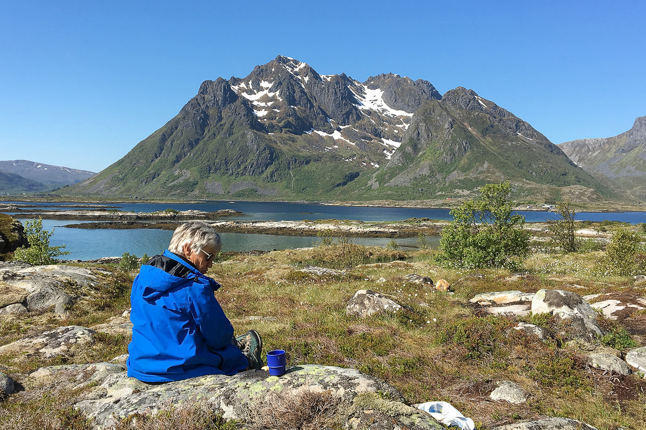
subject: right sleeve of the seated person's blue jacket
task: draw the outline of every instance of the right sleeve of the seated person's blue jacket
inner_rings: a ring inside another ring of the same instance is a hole
[[[194,282],[188,289],[189,313],[209,348],[219,350],[231,343],[233,325],[222,311],[209,285]]]

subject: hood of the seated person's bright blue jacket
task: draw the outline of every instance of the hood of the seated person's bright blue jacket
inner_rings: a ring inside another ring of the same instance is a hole
[[[178,289],[185,283],[196,282],[208,284],[216,291],[220,284],[213,278],[204,276],[190,263],[183,261],[180,256],[171,251],[164,251],[161,256],[154,256],[148,263],[141,266],[137,278],[145,283],[142,298],[152,300],[167,291]]]

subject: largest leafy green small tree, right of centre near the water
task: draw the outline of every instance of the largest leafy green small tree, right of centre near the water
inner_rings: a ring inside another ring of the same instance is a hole
[[[512,214],[509,182],[488,184],[480,198],[451,210],[453,222],[442,231],[437,259],[452,267],[514,268],[529,254],[525,217]]]

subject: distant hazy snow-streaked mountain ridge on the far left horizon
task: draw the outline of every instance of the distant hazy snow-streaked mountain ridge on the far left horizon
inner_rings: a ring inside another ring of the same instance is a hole
[[[72,185],[96,174],[88,170],[70,169],[69,167],[52,166],[26,159],[0,161],[0,172],[20,175],[26,179],[44,184],[42,190],[51,190],[65,185]]]

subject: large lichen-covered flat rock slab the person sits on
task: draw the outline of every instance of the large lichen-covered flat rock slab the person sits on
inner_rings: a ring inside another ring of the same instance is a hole
[[[284,376],[269,376],[266,371],[251,371],[233,376],[207,375],[166,384],[145,384],[126,373],[107,374],[105,380],[92,389],[92,400],[81,400],[75,407],[96,418],[99,427],[114,424],[114,417],[134,413],[155,413],[167,402],[184,404],[195,400],[207,402],[225,418],[244,418],[245,409],[262,400],[280,394],[304,391],[327,391],[339,402],[339,413],[346,425],[362,427],[362,423],[386,417],[384,429],[441,429],[433,418],[403,404],[402,395],[382,380],[362,374],[355,369],[302,365],[287,369]],[[368,413],[370,412],[370,413]],[[382,428],[382,427],[380,427]]]

